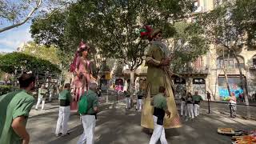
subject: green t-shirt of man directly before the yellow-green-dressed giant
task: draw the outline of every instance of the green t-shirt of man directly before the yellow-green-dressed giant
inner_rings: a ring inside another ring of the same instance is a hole
[[[160,93],[154,96],[153,98],[154,107],[162,110],[167,110],[166,97]]]

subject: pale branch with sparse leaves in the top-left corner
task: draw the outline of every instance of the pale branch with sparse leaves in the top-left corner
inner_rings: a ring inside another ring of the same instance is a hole
[[[50,16],[72,1],[62,0],[6,0],[0,2],[0,33],[22,26],[31,18]],[[8,26],[9,25],[9,26]]]

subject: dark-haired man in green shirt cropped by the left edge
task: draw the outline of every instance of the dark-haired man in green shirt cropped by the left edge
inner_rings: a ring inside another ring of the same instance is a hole
[[[30,134],[26,122],[34,105],[34,98],[28,94],[34,90],[33,74],[22,74],[18,78],[20,90],[0,96],[0,143],[28,144]]]

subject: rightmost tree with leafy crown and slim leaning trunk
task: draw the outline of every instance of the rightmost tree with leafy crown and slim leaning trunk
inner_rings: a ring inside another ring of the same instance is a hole
[[[203,26],[207,39],[218,46],[222,46],[223,55],[225,55],[225,51],[228,54],[233,54],[238,62],[248,118],[250,118],[250,106],[238,54],[244,46],[251,46],[254,43],[255,17],[253,15],[255,6],[254,0],[224,2],[210,13],[199,15],[199,23]],[[225,64],[223,65],[225,66]]]

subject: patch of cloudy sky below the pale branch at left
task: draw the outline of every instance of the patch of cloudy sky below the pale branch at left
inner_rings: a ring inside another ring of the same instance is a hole
[[[0,33],[0,52],[17,50],[23,42],[31,41],[30,23]]]

